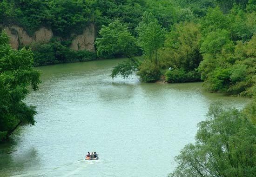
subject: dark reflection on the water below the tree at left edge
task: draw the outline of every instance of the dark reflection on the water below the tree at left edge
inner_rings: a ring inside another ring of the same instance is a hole
[[[29,168],[39,166],[40,159],[35,148],[15,149],[16,146],[17,142],[13,140],[0,144],[1,177],[27,173]],[[7,154],[8,152],[12,153]]]

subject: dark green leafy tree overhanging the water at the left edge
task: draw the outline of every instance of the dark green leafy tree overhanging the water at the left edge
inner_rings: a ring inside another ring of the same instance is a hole
[[[40,73],[33,66],[33,53],[13,50],[6,33],[0,33],[0,141],[22,124],[34,125],[35,107],[23,102],[31,85],[36,91]]]

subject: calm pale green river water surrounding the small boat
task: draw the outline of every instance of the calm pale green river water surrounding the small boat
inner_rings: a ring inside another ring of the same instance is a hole
[[[0,176],[166,177],[210,103],[242,108],[249,101],[203,92],[201,83],[112,80],[118,62],[40,67],[40,90],[27,98],[37,106],[37,124],[0,144]],[[88,151],[100,159],[85,161]]]

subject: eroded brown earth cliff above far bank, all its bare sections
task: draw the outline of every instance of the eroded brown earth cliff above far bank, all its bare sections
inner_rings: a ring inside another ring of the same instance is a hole
[[[33,36],[29,36],[22,27],[16,25],[4,26],[3,29],[7,32],[13,49],[18,49],[19,46],[29,46],[33,42],[47,43],[54,37],[52,30],[46,27],[41,27],[35,31]],[[87,26],[81,35],[72,34],[72,36],[74,39],[70,45],[71,49],[95,52],[95,28],[93,24]]]

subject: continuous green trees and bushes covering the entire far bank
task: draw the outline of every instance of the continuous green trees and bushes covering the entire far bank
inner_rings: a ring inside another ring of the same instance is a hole
[[[144,82],[203,81],[209,92],[252,96],[256,85],[255,0],[1,0],[0,24],[32,34],[34,65],[128,57],[111,76],[136,73]],[[72,33],[96,27],[96,53],[69,49]],[[141,60],[132,59],[142,55]],[[136,62],[135,62],[136,61]],[[129,70],[125,72],[125,70]]]

